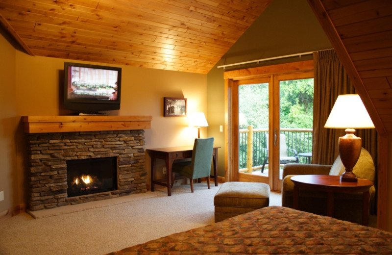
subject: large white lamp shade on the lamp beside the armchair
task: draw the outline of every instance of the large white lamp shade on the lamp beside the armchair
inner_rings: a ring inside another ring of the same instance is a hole
[[[359,95],[347,94],[338,96],[324,128],[374,128],[374,125]]]

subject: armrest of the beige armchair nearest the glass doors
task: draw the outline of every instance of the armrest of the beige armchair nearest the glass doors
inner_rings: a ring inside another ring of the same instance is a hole
[[[286,164],[283,167],[283,178],[288,175],[328,175],[331,165]]]

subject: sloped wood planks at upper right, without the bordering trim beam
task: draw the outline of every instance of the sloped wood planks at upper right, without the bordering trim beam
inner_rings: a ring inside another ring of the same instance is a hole
[[[322,1],[379,118],[392,132],[392,2]]]

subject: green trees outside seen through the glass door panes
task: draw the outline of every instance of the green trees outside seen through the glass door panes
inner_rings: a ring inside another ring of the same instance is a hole
[[[285,80],[280,82],[280,128],[313,127],[314,81],[310,79]],[[247,126],[268,128],[269,126],[269,84],[239,86],[240,129]],[[261,165],[267,157],[265,132],[254,133],[253,165]],[[312,145],[309,133],[285,132],[289,148],[308,152]],[[240,168],[246,168],[246,133],[240,134]]]

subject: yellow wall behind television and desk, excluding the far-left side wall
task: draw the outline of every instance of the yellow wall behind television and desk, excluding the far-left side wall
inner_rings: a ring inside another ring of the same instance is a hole
[[[17,105],[19,115],[67,115],[60,107],[60,82],[66,59],[29,56],[17,52]],[[72,61],[70,61],[72,62]],[[83,62],[99,64],[93,62]],[[186,117],[163,117],[163,98],[187,98],[188,113],[207,110],[206,75],[130,66],[122,68],[121,109],[109,115],[152,115],[146,147],[193,144],[196,128]],[[202,135],[206,135],[202,128]],[[148,135],[147,135],[148,134]],[[196,135],[196,136],[195,136]]]

